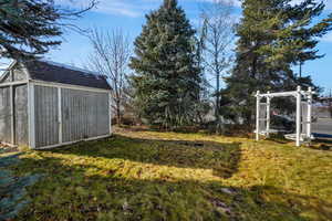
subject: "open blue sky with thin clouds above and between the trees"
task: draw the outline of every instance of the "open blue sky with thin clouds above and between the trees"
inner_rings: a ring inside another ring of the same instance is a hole
[[[163,0],[98,0],[98,6],[86,12],[83,18],[73,21],[73,23],[82,29],[98,28],[105,31],[122,29],[128,34],[131,40],[141,33],[142,25],[145,23],[145,14],[159,7]],[[188,19],[193,25],[197,24],[199,10],[205,4],[209,4],[212,0],[178,0],[180,7],[186,11]],[[294,3],[301,0],[293,0]],[[68,7],[84,7],[89,0],[56,0],[59,4]],[[332,13],[332,0],[325,0],[326,9],[323,17]],[[235,2],[237,9],[235,15],[240,17],[240,2]],[[332,90],[332,33],[322,39],[318,49],[321,54],[325,54],[323,59],[308,62],[303,66],[303,73],[310,74],[314,83],[324,87],[325,91]],[[87,54],[92,48],[89,39],[81,33],[68,30],[63,35],[63,43],[56,49],[51,50],[46,55],[46,60],[54,62],[71,64],[75,66],[84,66]],[[294,70],[298,70],[294,67]],[[305,74],[304,74],[305,75]]]

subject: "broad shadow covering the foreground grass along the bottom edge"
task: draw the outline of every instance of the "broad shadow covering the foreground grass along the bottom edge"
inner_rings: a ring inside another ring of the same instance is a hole
[[[69,149],[68,149],[69,150]],[[332,204],[269,186],[132,179],[63,159],[22,159],[46,175],[30,188],[19,220],[331,220]]]

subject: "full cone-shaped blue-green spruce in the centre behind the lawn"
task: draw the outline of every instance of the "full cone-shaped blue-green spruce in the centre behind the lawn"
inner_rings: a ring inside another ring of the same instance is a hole
[[[146,19],[129,64],[139,115],[165,128],[190,124],[200,91],[195,30],[176,0],[164,0]]]

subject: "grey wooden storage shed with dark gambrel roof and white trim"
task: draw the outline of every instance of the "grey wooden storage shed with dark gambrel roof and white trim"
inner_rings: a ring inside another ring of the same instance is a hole
[[[0,141],[52,148],[111,135],[105,76],[66,65],[13,62],[0,77]]]

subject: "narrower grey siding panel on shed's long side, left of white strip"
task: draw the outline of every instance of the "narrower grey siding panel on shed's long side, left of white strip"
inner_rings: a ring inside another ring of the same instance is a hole
[[[35,147],[59,144],[58,88],[34,86]]]

